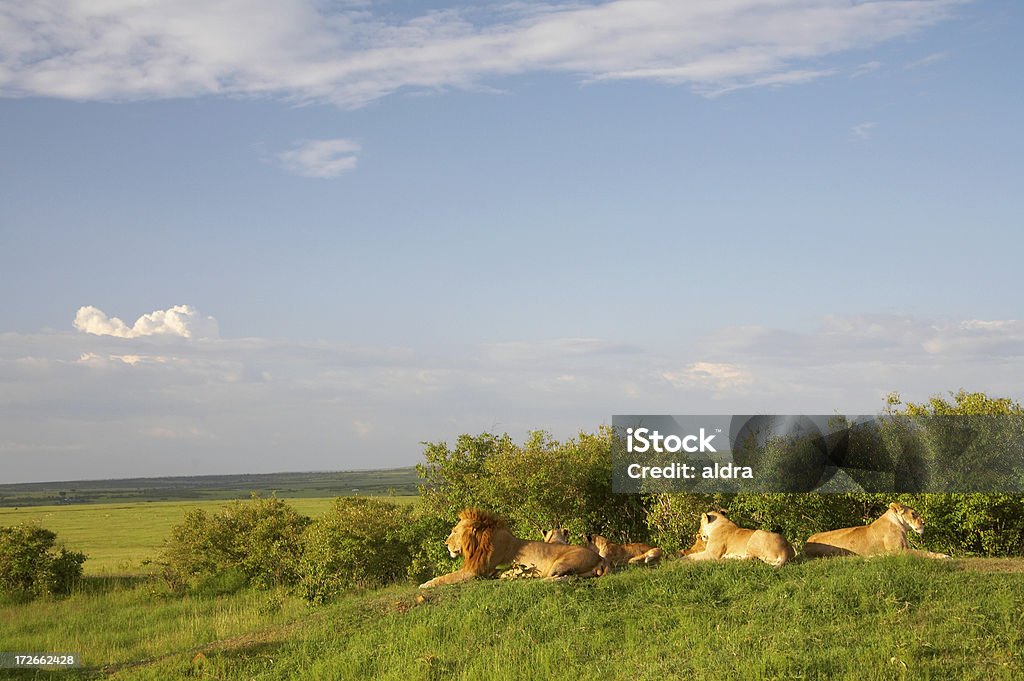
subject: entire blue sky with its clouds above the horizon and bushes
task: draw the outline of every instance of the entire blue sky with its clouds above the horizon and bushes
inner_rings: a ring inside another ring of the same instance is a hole
[[[0,6],[7,478],[1020,398],[1021,19]]]

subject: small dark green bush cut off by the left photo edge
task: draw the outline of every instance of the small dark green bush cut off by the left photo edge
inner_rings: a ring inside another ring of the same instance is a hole
[[[85,554],[55,548],[56,535],[36,525],[0,527],[0,593],[17,597],[71,593]]]

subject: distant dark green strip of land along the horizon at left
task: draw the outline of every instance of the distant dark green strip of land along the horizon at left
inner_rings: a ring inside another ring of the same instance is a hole
[[[76,480],[0,484],[0,507],[54,504],[115,504],[129,502],[248,499],[257,492],[288,499],[349,495],[416,495],[414,467],[373,471],[201,475],[123,480]]]

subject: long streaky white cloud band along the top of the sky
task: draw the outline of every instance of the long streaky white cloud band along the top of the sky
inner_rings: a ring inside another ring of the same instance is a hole
[[[958,2],[537,1],[410,18],[315,0],[10,2],[0,6],[0,93],[275,95],[350,108],[537,72],[721,93],[831,73],[816,68],[821,58],[912,34]]]

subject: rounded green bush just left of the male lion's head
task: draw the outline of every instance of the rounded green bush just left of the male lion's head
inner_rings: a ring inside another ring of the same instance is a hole
[[[420,544],[419,529],[408,506],[365,497],[338,498],[306,531],[303,598],[322,603],[348,589],[406,579]]]

